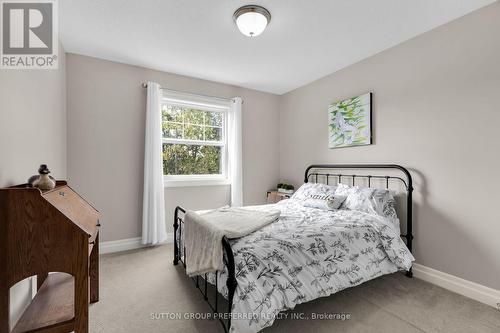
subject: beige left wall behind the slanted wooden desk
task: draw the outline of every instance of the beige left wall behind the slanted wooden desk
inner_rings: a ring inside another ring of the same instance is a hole
[[[59,70],[0,70],[0,187],[25,183],[42,163],[66,178],[65,53],[59,48]],[[30,298],[30,279],[11,289],[11,325]]]

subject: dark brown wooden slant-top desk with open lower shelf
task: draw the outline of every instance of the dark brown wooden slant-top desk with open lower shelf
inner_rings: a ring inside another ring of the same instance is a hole
[[[42,192],[0,189],[0,333],[88,332],[99,300],[99,213],[65,181]],[[37,276],[38,292],[9,328],[9,289]]]

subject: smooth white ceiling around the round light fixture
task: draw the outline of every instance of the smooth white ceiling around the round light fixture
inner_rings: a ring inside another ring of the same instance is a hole
[[[63,0],[67,52],[283,94],[495,0]],[[242,5],[272,15],[243,36]]]

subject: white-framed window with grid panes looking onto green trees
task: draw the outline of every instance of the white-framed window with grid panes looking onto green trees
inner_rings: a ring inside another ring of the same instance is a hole
[[[229,104],[165,96],[162,104],[163,174],[167,186],[228,182]]]

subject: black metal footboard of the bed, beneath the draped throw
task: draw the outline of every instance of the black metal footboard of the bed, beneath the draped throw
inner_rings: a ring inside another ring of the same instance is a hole
[[[186,210],[180,206],[175,208],[174,213],[174,265],[178,265],[179,262],[182,263],[184,268],[186,268],[186,247],[184,246],[183,239],[183,229],[184,229],[184,214]],[[231,309],[233,307],[233,298],[234,293],[236,291],[236,287],[238,286],[238,282],[236,281],[235,274],[235,264],[234,264],[234,254],[231,248],[231,244],[226,237],[222,238],[221,244],[224,250],[224,264],[227,268],[227,303],[223,304],[222,309],[219,306],[219,301],[224,303],[224,297],[220,295],[218,291],[218,277],[219,272],[215,272],[215,287],[213,288],[214,295],[213,303],[210,302],[209,299],[209,283],[207,279],[207,274],[197,275],[193,277],[196,288],[201,292],[203,298],[208,303],[212,312],[214,314],[214,318],[217,318],[219,322],[222,324],[224,328],[224,332],[229,332],[229,328],[231,327]],[[203,280],[203,281],[200,281]],[[224,306],[226,305],[226,306]]]

